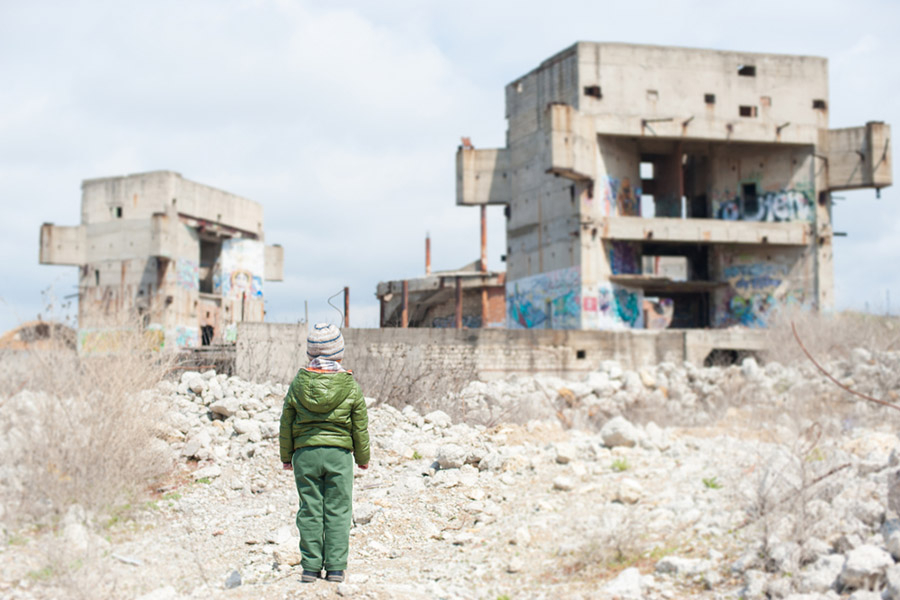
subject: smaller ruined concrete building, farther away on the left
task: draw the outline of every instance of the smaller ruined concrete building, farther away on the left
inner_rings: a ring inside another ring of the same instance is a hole
[[[103,346],[137,320],[167,349],[233,341],[262,321],[263,280],[280,281],[283,251],[263,242],[252,200],[171,171],[82,183],[81,224],[41,227],[41,264],[74,265],[78,346]]]

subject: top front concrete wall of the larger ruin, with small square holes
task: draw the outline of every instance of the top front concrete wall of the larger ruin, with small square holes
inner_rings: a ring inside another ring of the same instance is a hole
[[[650,125],[659,137],[774,141],[776,128],[789,122],[779,141],[815,144],[827,127],[825,58],[593,42],[573,49],[579,94],[570,104],[592,115],[598,132],[647,135],[642,121],[658,119]],[[755,75],[740,75],[740,66]],[[590,86],[602,97],[587,95]],[[813,108],[813,100],[826,108]],[[740,106],[754,114],[741,116]]]

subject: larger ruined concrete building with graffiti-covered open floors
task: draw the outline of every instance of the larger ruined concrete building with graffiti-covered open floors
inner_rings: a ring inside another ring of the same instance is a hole
[[[828,111],[810,56],[579,42],[510,83],[506,147],[457,154],[457,203],[506,207],[507,326],[832,308],[831,194],[891,185],[891,150]]]

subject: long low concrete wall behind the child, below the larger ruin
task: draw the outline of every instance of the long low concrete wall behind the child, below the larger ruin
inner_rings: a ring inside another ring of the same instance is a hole
[[[753,331],[554,331],[498,329],[345,329],[344,364],[370,395],[397,382],[421,393],[451,380],[489,380],[511,374],[580,377],[604,360],[626,368],[663,361],[702,364],[714,348],[759,350]],[[306,365],[302,324],[240,323],[236,375],[289,382]],[[368,386],[368,387],[367,387]]]

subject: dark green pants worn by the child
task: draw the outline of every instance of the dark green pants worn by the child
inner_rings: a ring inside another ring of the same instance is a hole
[[[291,460],[300,510],[300,565],[305,571],[343,571],[353,518],[353,454],[344,448],[299,448]]]

